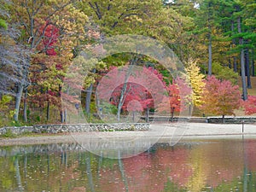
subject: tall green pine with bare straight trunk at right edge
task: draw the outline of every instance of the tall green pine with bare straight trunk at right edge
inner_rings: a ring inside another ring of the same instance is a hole
[[[224,30],[226,41],[230,41],[230,58],[233,57],[233,67],[236,72],[241,69],[243,97],[247,99],[247,88],[251,87],[250,63],[253,62],[253,47],[255,47],[255,26],[253,26],[253,1],[220,1],[218,24]],[[240,63],[237,58],[240,57]],[[250,62],[252,58],[252,62]],[[231,62],[230,62],[231,63]],[[239,67],[240,64],[240,67]],[[231,66],[231,64],[230,64]],[[247,84],[246,84],[247,76]]]

